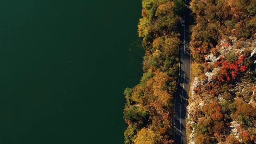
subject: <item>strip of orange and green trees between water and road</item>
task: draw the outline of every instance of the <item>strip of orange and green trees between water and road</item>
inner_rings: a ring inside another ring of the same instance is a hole
[[[124,95],[125,144],[173,144],[172,100],[176,94],[183,0],[142,0],[138,35],[144,74]]]

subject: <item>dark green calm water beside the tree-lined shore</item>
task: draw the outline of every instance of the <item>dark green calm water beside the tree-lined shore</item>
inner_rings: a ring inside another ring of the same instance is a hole
[[[0,1],[0,144],[122,144],[140,0]]]

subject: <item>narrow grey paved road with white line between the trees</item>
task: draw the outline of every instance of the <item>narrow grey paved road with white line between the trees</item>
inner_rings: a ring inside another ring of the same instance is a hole
[[[189,16],[188,9],[190,0],[185,0],[185,11],[183,20],[185,27],[180,28],[180,78],[178,84],[178,94],[174,105],[174,141],[175,144],[186,144],[186,104],[188,98],[188,84],[190,80],[190,52],[189,52]]]

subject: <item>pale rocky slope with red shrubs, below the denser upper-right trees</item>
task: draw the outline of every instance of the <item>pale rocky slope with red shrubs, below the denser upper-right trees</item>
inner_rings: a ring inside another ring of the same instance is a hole
[[[230,39],[216,46],[218,54],[205,56],[203,73],[192,79],[187,107],[191,144],[256,139],[256,38]]]

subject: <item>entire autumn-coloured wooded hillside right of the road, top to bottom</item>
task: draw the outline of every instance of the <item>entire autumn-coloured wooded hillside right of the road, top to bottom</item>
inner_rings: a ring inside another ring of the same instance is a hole
[[[192,0],[190,8],[192,76],[199,82],[187,129],[195,144],[255,144],[256,0]]]

